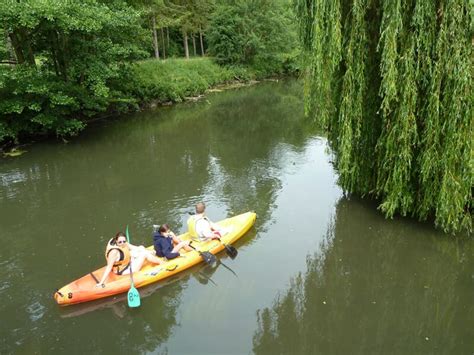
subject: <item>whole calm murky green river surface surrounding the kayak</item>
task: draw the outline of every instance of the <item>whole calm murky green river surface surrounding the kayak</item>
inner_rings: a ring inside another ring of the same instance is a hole
[[[474,354],[474,243],[385,220],[337,185],[301,83],[265,82],[108,120],[0,158],[0,353]],[[59,307],[130,225],[185,231],[205,201],[255,226],[235,260]],[[210,281],[211,279],[212,281]]]

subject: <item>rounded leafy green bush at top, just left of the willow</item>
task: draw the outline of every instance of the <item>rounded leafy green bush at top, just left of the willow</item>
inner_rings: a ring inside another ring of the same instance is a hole
[[[281,71],[295,48],[291,8],[283,1],[229,1],[217,6],[207,40],[219,64],[252,65],[267,73]]]

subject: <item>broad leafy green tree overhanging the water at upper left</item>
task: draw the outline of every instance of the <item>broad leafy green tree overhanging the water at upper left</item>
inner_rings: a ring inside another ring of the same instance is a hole
[[[88,117],[135,104],[124,83],[130,82],[128,62],[143,55],[134,42],[139,14],[120,3],[109,6],[2,2],[0,20],[16,41],[20,65],[1,72],[0,141],[76,134]]]

